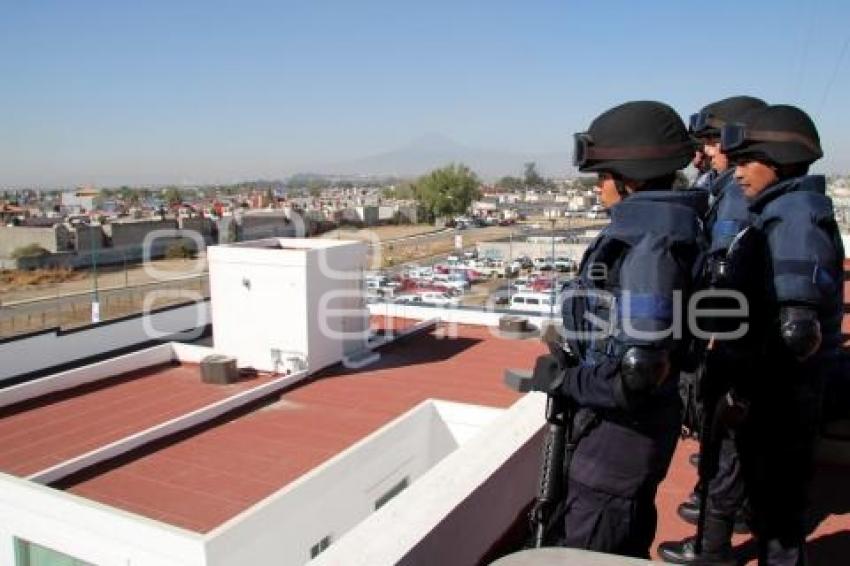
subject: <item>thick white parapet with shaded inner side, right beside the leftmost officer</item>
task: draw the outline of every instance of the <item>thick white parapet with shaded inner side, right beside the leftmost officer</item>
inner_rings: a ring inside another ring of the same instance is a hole
[[[535,495],[545,404],[525,395],[311,566],[479,563]]]

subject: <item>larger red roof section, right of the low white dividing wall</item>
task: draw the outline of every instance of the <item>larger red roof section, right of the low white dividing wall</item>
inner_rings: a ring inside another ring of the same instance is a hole
[[[207,532],[429,398],[508,407],[506,368],[530,367],[539,340],[505,340],[460,326],[402,339],[362,370],[337,367],[280,399],[68,489],[86,498]]]

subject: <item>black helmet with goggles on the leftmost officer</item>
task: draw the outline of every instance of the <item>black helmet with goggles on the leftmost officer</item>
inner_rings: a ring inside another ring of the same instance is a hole
[[[647,181],[675,173],[693,156],[693,140],[675,110],[635,101],[603,112],[586,132],[575,134],[573,164],[583,173]]]

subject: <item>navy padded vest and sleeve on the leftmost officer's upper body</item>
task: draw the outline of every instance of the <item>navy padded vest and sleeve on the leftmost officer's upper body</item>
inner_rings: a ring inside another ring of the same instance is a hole
[[[687,306],[706,201],[705,191],[641,191],[611,208],[563,295],[566,341],[582,365],[618,360],[631,346],[681,345],[665,331]]]

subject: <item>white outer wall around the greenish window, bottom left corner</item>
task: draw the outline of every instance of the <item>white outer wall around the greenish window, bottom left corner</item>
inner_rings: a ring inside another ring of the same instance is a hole
[[[15,540],[97,566],[204,566],[203,536],[0,473],[0,564]]]

